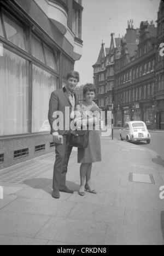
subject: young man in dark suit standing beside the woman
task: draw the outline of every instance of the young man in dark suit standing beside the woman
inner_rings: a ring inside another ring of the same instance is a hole
[[[77,97],[74,93],[74,89],[77,86],[78,82],[79,73],[76,71],[71,71],[67,75],[66,86],[52,92],[50,97],[48,119],[51,126],[51,134],[52,136],[54,136],[54,140],[56,141],[56,160],[54,164],[52,192],[52,197],[54,198],[60,198],[60,191],[66,193],[74,192],[72,190],[69,190],[69,188],[66,186],[66,173],[69,157],[72,151],[72,147],[69,146],[69,138],[71,135],[70,113],[75,109],[76,105],[78,104]],[[69,110],[69,112],[67,112],[66,109]],[[63,127],[61,129],[57,129],[56,126],[53,125],[54,121],[57,121],[58,118],[57,111],[61,112],[63,115]],[[54,115],[55,112],[57,113],[56,115]],[[68,122],[65,122],[65,120],[67,119],[69,119]],[[60,144],[61,135],[63,138],[63,144]]]

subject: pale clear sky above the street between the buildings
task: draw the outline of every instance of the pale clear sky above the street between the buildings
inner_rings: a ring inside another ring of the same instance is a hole
[[[133,19],[134,29],[141,21],[154,21],[156,26],[160,0],[82,0],[83,55],[75,62],[74,70],[79,71],[79,85],[93,82],[92,65],[96,63],[102,40],[110,47],[110,34],[124,36],[127,21]]]

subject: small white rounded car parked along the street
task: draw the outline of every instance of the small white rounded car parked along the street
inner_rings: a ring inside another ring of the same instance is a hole
[[[124,124],[120,130],[121,140],[131,141],[147,141],[150,143],[151,136],[147,126],[143,121],[129,121]]]

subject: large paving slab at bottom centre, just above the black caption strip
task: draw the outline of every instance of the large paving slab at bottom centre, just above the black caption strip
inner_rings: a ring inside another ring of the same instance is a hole
[[[103,243],[106,227],[93,221],[51,218],[36,237],[75,244]]]

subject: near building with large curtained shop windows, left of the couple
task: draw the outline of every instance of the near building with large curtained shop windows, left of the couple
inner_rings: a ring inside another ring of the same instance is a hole
[[[0,169],[54,151],[52,91],[82,54],[81,0],[0,2]]]

